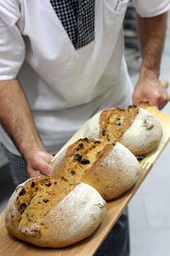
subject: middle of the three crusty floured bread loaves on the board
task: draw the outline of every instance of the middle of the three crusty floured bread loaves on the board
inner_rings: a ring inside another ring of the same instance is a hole
[[[79,139],[56,158],[52,177],[84,182],[110,200],[137,182],[140,169],[135,156],[118,142]]]

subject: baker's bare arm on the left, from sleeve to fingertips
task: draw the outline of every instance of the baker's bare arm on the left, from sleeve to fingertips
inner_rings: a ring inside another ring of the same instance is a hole
[[[52,158],[46,152],[33,122],[27,98],[17,79],[0,81],[0,122],[27,162],[34,177],[38,171],[50,175]]]

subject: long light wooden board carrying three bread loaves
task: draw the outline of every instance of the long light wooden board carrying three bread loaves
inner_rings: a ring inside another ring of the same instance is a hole
[[[135,195],[137,189],[143,182],[143,180],[146,178],[146,175],[148,175],[149,171],[152,169],[154,163],[160,156],[160,154],[165,149],[167,143],[169,143],[170,140],[170,115],[167,115],[161,111],[158,111],[156,107],[148,106],[146,104],[140,105],[140,107],[143,107],[150,111],[153,115],[156,116],[157,119],[160,120],[162,126],[163,126],[163,137],[160,141],[160,144],[156,150],[151,152],[141,160],[141,175],[139,177],[139,180],[131,188],[131,190],[127,191],[119,197],[118,199],[109,201],[107,203],[107,214],[105,215],[105,218],[103,219],[103,222],[98,227],[98,229],[95,231],[95,233],[92,234],[89,238],[86,238],[82,242],[78,242],[78,244],[75,244],[73,246],[69,246],[67,248],[60,248],[60,249],[54,249],[54,248],[39,248],[37,246],[33,246],[31,244],[27,244],[26,242],[22,242],[19,240],[16,240],[16,238],[13,238],[7,233],[7,230],[5,229],[5,223],[4,223],[4,216],[5,216],[5,210],[1,212],[0,214],[0,255],[1,256],[17,256],[17,255],[24,255],[24,256],[45,256],[45,255],[52,255],[52,256],[91,256],[94,255],[105,237],[107,236],[107,233],[112,229],[116,221],[118,220],[120,214],[122,214],[124,208],[126,208],[126,205],[128,205],[129,201],[131,201],[133,195]],[[88,121],[89,122],[89,121]],[[86,122],[87,124],[87,122]],[[73,141],[76,141],[77,139],[80,139],[83,137],[84,134],[84,128],[86,126],[82,126],[78,132],[75,133],[75,135],[67,142],[67,144],[63,147],[67,147]],[[63,149],[62,149],[63,150]],[[59,153],[59,152],[58,152]],[[54,158],[57,157],[58,154]]]

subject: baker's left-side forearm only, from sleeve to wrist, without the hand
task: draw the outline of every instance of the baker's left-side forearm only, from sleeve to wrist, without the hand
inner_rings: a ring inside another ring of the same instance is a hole
[[[0,81],[0,122],[24,158],[44,150],[18,80]]]

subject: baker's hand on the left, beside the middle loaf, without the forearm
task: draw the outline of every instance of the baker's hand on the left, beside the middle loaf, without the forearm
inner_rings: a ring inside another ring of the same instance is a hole
[[[50,176],[52,166],[49,164],[52,155],[46,152],[35,152],[29,159],[27,159],[27,173],[29,177],[35,177],[40,173]]]

